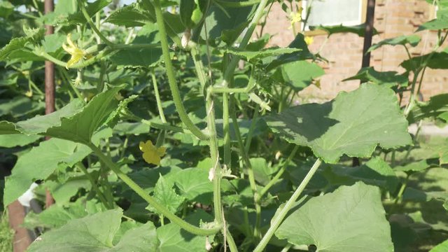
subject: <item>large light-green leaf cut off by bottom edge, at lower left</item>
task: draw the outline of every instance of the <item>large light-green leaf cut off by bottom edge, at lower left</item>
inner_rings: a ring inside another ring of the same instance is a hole
[[[122,217],[121,209],[113,209],[69,221],[62,228],[45,232],[28,251],[157,251],[158,239],[153,223],[128,230],[118,244],[113,244]]]

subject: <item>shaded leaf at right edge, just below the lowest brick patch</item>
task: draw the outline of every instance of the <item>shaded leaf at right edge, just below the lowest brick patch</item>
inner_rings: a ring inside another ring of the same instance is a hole
[[[407,116],[409,123],[416,123],[419,120],[430,118],[435,120],[442,113],[448,112],[448,93],[436,94],[430,97],[428,102],[416,102]]]

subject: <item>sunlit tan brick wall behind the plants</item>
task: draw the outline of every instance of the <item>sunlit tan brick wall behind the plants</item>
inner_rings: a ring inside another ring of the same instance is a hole
[[[373,43],[386,38],[413,34],[423,22],[434,18],[434,8],[425,0],[377,0],[374,15],[374,27],[379,35],[373,37]],[[267,18],[265,33],[274,35],[270,45],[286,46],[293,40],[293,31],[288,29],[290,22],[279,3],[274,3]],[[422,31],[419,33],[421,42],[410,50],[413,56],[429,52],[434,47],[437,33]],[[355,75],[361,66],[363,38],[356,34],[334,34],[323,45],[326,34],[314,36],[314,43],[309,48],[328,59],[321,64],[325,76],[321,78],[321,88],[310,86],[301,92],[303,97],[332,99],[341,90],[353,90],[359,81],[342,82],[344,78]],[[323,46],[322,46],[323,45]],[[443,48],[443,47],[442,47]],[[370,65],[377,71],[398,71],[402,73],[399,64],[407,59],[407,53],[402,46],[383,46],[372,52]],[[423,78],[421,93],[425,99],[442,92],[448,92],[448,71],[427,69]]]

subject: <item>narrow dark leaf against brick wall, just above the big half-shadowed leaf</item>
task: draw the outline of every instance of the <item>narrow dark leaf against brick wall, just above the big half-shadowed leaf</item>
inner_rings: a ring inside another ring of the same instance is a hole
[[[360,80],[361,83],[371,82],[377,85],[384,85],[386,87],[395,87],[400,85],[402,87],[407,87],[409,73],[398,74],[396,71],[384,71],[379,72],[375,71],[375,69],[370,67],[362,68],[356,73],[356,76],[352,76],[350,78],[346,78],[342,81],[346,80]]]

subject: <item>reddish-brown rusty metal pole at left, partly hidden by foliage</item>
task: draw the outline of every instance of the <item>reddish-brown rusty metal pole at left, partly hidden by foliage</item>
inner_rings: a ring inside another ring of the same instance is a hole
[[[53,0],[45,0],[45,14],[52,13],[55,8]],[[53,34],[55,31],[51,25],[45,25],[45,35]],[[55,111],[55,64],[50,61],[45,61],[45,114]],[[46,190],[45,193],[45,208],[50,207],[55,200]]]

